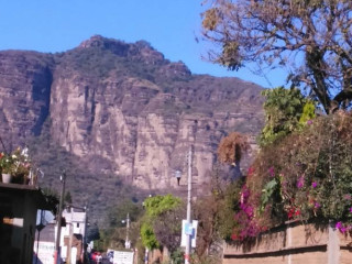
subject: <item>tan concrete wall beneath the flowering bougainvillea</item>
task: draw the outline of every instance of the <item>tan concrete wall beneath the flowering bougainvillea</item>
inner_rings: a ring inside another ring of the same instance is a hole
[[[226,244],[223,264],[351,264],[352,238],[334,224],[287,222],[243,243]]]

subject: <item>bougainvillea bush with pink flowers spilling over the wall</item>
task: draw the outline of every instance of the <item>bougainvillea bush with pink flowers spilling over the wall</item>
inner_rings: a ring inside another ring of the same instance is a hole
[[[333,220],[352,230],[352,114],[319,117],[263,147],[249,170],[233,239],[286,220]]]

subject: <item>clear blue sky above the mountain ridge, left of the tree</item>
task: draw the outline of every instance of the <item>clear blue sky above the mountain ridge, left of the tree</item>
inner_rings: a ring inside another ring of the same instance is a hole
[[[99,34],[124,42],[147,41],[166,58],[183,61],[194,74],[239,77],[263,87],[284,84],[285,74],[266,78],[229,72],[206,62],[200,38],[202,0],[0,0],[0,50],[64,52]]]

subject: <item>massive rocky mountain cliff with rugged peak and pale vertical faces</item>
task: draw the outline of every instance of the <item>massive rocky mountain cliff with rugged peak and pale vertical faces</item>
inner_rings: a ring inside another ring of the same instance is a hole
[[[258,86],[191,75],[145,42],[94,36],[59,54],[1,52],[0,75],[9,147],[41,134],[50,119],[52,140],[88,168],[142,189],[174,188],[190,144],[195,182],[209,180],[220,139],[254,136],[262,125]]]

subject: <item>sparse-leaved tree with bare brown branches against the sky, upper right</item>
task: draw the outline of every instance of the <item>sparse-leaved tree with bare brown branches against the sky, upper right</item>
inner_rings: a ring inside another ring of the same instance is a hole
[[[327,113],[352,99],[352,1],[212,0],[204,13],[210,58],[230,69],[283,67]]]

